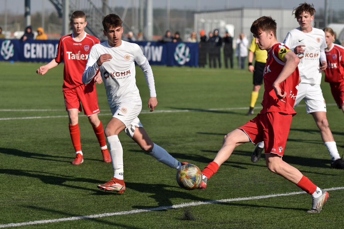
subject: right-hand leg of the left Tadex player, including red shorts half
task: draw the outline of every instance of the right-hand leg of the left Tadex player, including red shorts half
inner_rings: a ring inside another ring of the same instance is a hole
[[[81,101],[84,113],[91,124],[99,142],[100,151],[104,162],[111,162],[111,157],[107,149],[103,123],[98,118],[99,106],[95,84],[80,85],[76,88],[78,98]]]

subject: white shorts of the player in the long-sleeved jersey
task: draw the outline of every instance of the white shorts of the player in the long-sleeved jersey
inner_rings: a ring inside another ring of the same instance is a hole
[[[124,101],[117,103],[116,107],[110,107],[112,117],[122,121],[126,129],[126,134],[132,138],[135,132],[135,127],[143,127],[138,118],[142,109],[141,100]]]

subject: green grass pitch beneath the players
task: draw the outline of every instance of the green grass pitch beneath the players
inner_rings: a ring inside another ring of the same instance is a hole
[[[295,194],[301,189],[269,172],[264,158],[251,163],[255,148],[251,143],[235,149],[205,190],[187,191],[176,183],[174,169],[157,162],[121,133],[126,191],[120,195],[97,188],[110,180],[113,171],[111,163],[102,162],[84,115],[79,117],[84,163],[71,164],[75,152],[63,102],[63,65],[44,76],[35,73],[40,65],[0,62],[1,228],[344,227],[344,171],[331,169],[330,156],[304,103],[295,108],[298,114],[283,159],[321,188],[342,187],[329,190],[330,198],[320,214],[307,214],[311,197]],[[152,69],[159,104],[148,112],[148,87],[137,68],[143,103],[139,118],[144,128],[176,159],[203,169],[221,148],[224,135],[249,120],[252,75],[239,69]],[[323,83],[322,89],[342,155],[343,113],[334,105],[329,84]],[[103,84],[97,85],[97,93],[99,118],[105,127],[111,114]],[[261,89],[255,113],[262,95]],[[266,196],[273,194],[286,195]]]

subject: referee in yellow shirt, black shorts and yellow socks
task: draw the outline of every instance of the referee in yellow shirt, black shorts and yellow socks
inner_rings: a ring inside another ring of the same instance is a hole
[[[253,73],[253,90],[251,92],[251,103],[250,109],[247,115],[254,114],[255,104],[258,99],[258,92],[260,85],[263,83],[263,71],[268,58],[266,50],[260,50],[258,45],[255,43],[256,39],[253,37],[251,41],[251,46],[248,53],[248,70]],[[252,65],[253,55],[255,56],[255,65]]]

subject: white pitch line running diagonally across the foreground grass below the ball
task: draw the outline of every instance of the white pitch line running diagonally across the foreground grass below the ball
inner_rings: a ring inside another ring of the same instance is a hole
[[[332,191],[332,190],[341,190],[341,189],[344,189],[344,187],[324,188],[323,190]],[[118,212],[110,212],[110,213],[103,213],[103,214],[97,214],[97,215],[74,216],[74,217],[60,218],[60,219],[35,220],[35,221],[21,222],[21,223],[0,224],[0,228],[72,221],[72,220],[79,220],[79,219],[102,218],[102,217],[107,217],[107,216],[129,215],[129,214],[136,214],[136,213],[141,213],[141,212],[161,211],[161,210],[167,210],[167,209],[177,209],[177,208],[184,208],[184,207],[190,207],[190,206],[198,206],[198,205],[203,205],[203,204],[217,204],[217,203],[228,203],[228,202],[241,201],[241,200],[267,199],[267,198],[272,198],[272,197],[292,196],[292,195],[305,194],[305,193],[306,192],[301,191],[301,192],[293,192],[293,193],[271,194],[271,195],[264,195],[264,196],[251,196],[251,197],[241,197],[241,198],[231,198],[231,199],[199,201],[199,202],[184,203],[184,204],[178,204],[178,205],[172,205],[172,206],[136,209],[136,210],[130,210],[130,211],[118,211]]]

